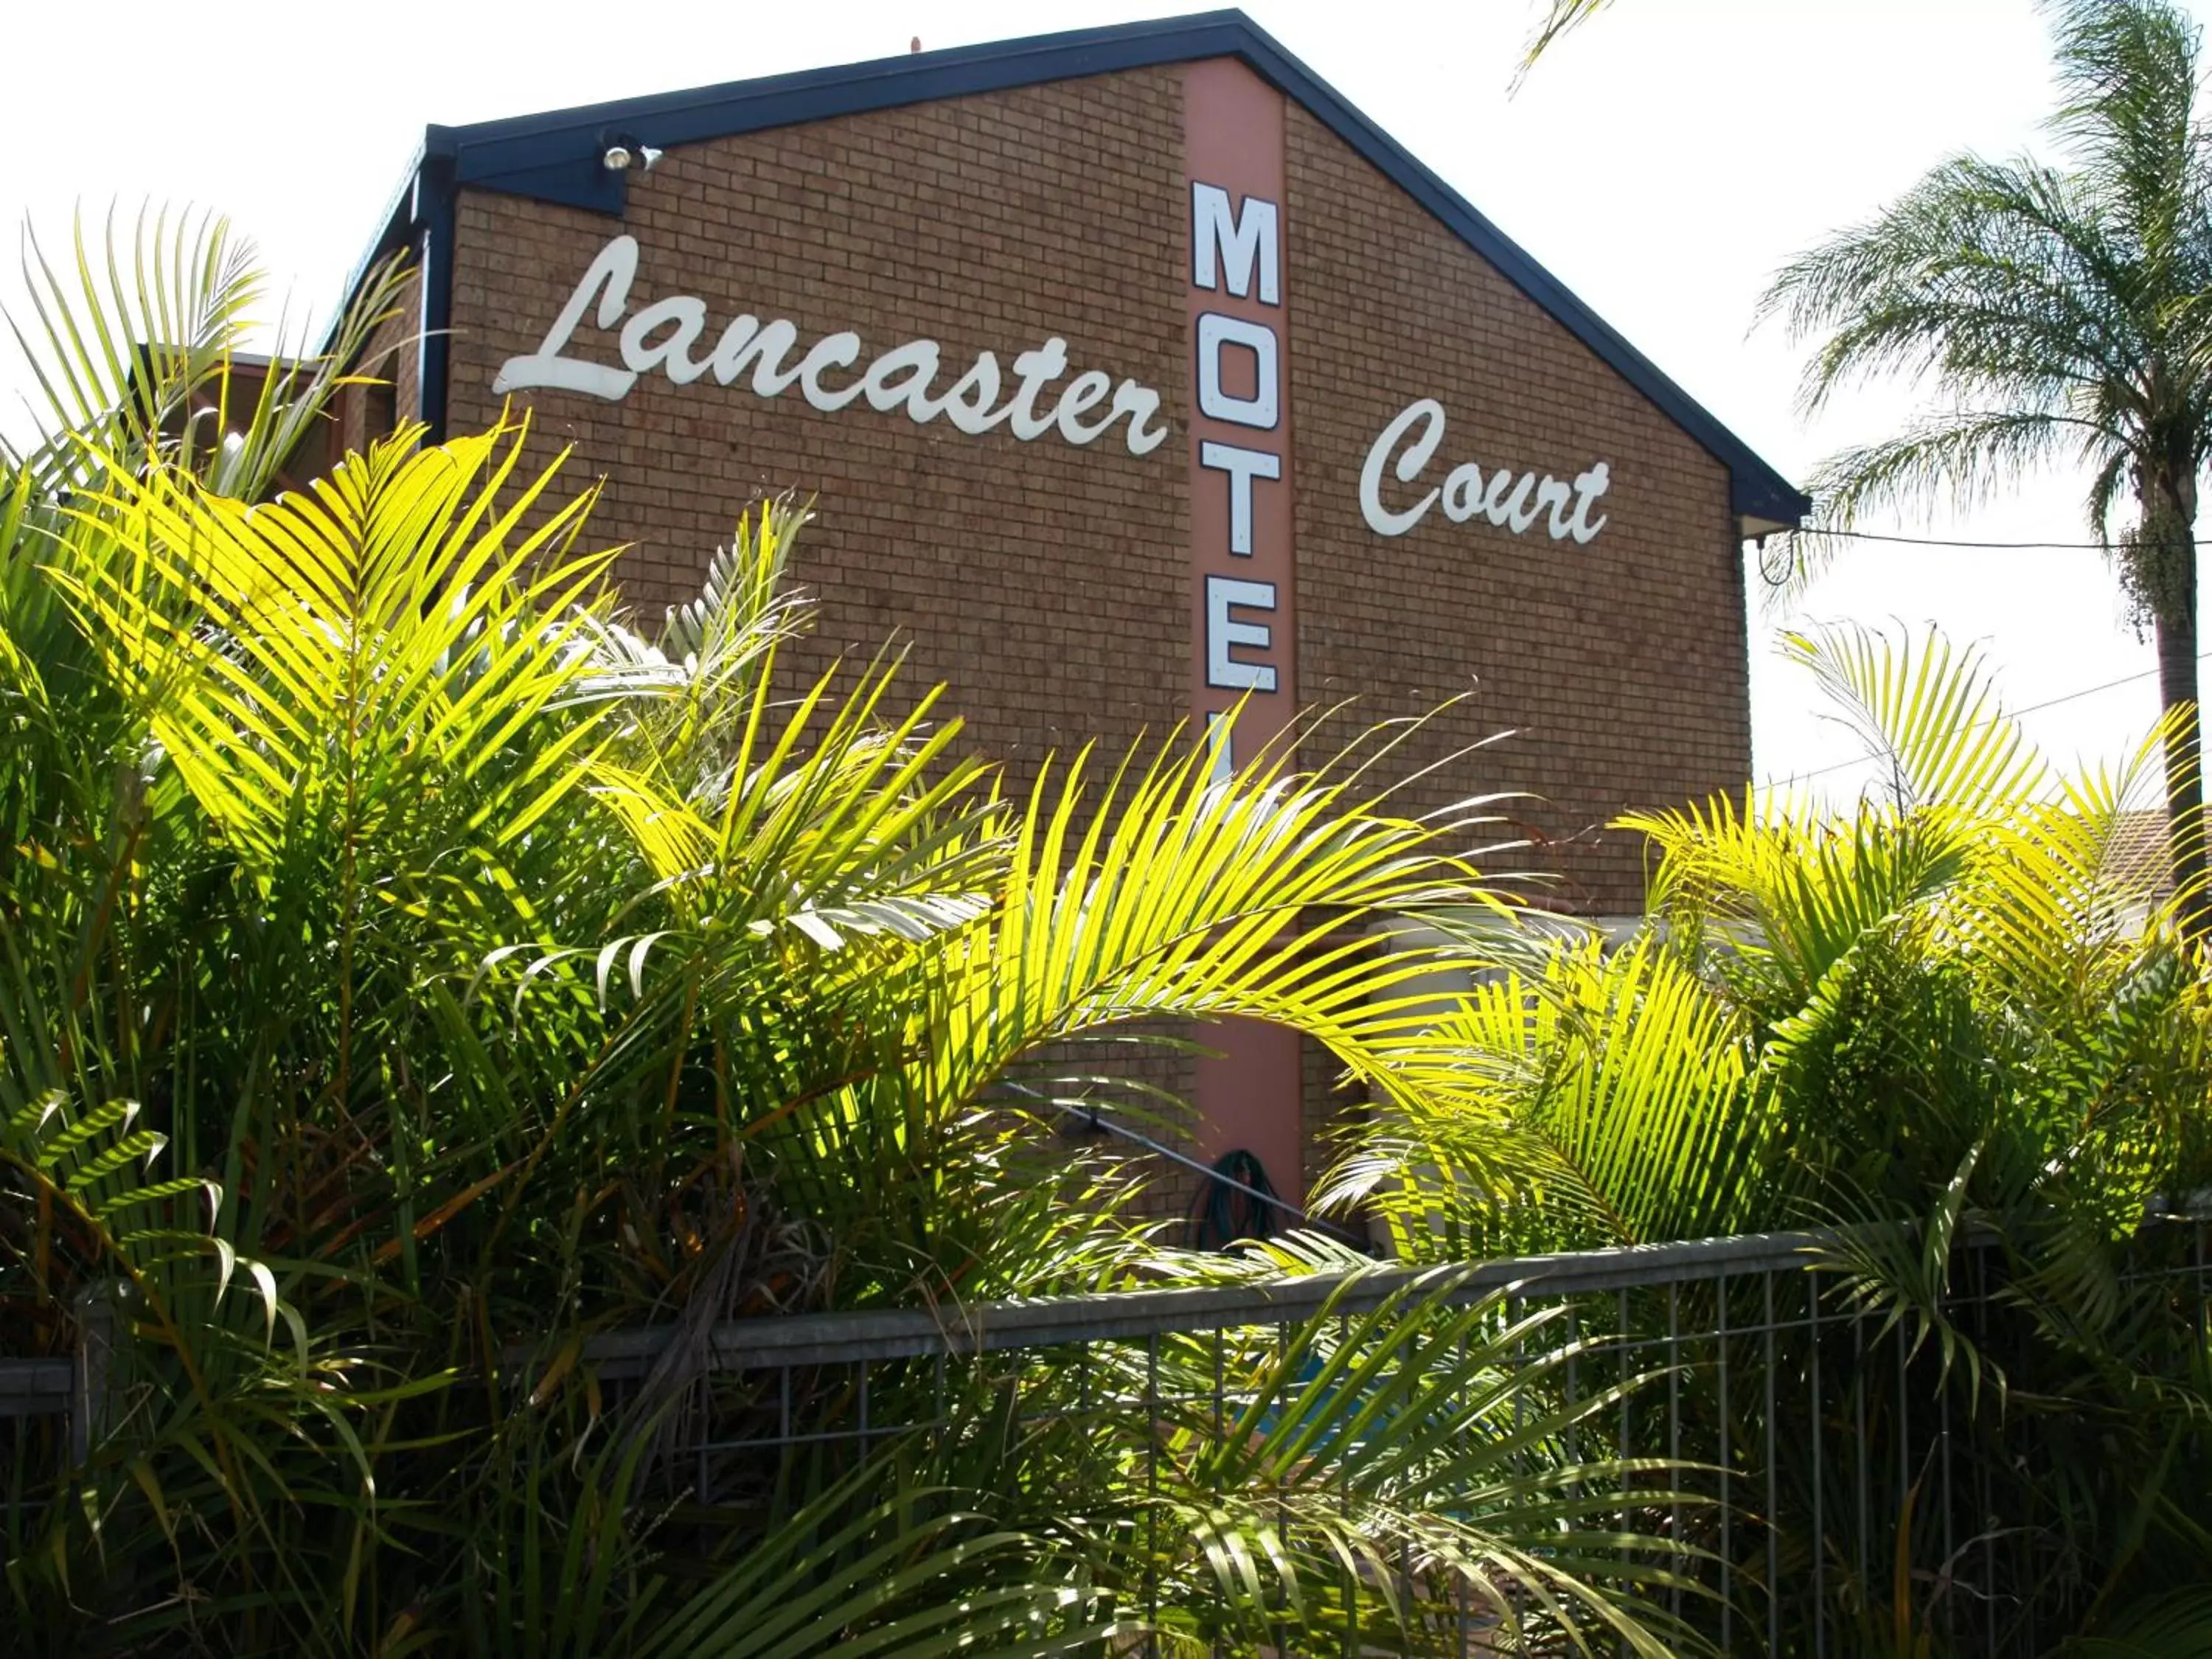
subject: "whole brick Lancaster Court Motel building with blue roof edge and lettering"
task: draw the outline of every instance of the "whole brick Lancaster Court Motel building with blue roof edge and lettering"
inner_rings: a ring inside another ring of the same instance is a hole
[[[1526,792],[1553,902],[1621,916],[1601,825],[1750,772],[1741,546],[1805,498],[1241,13],[434,126],[394,248],[398,414],[529,405],[644,606],[812,495],[794,670],[896,635],[1015,776],[1471,692],[1407,774],[1515,737],[1407,805]],[[1214,1042],[1203,1148],[1303,1188],[1325,1068]]]

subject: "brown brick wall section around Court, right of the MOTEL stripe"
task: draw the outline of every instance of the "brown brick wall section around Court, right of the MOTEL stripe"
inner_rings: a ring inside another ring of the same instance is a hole
[[[1305,699],[1356,697],[1336,723],[1349,737],[1471,690],[1407,745],[1405,770],[1515,737],[1405,803],[1528,792],[1500,812],[1546,843],[1515,860],[1557,876],[1540,891],[1639,911],[1644,849],[1601,825],[1750,776],[1728,469],[1296,104],[1285,239]],[[1360,518],[1360,465],[1420,396],[1449,414],[1425,482],[1460,460],[1557,471],[1604,458],[1604,533],[1579,546],[1431,511],[1378,538]]]

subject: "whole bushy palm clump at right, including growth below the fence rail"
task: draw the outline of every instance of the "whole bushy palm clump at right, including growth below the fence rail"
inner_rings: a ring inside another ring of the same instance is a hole
[[[2159,1194],[2212,1179],[2212,982],[2188,964],[2174,900],[2146,902],[2128,836],[2159,787],[2163,728],[2115,772],[2059,776],[1973,650],[1836,628],[1792,655],[1893,779],[1889,796],[1851,810],[1719,796],[1624,821],[1657,854],[1650,922],[1617,951],[1593,942],[1491,975],[1407,1033],[1422,1075],[1458,1062],[1458,1095],[1378,1113],[1325,1197],[1363,1199],[1413,1261],[1913,1223],[1845,1234],[1829,1265],[1847,1290],[1832,1296],[1878,1314],[1869,1327],[1905,1327],[1911,1387],[1984,1449],[1993,1482],[1962,1482],[1942,1524],[1953,1495],[1922,1491],[1918,1528],[1896,1522],[1911,1509],[1882,1520],[1865,1486],[1856,1517],[1781,1509],[1783,1559],[1818,1551],[1838,1615],[1887,1601],[1902,1630],[1936,1617],[1924,1588],[1913,1610],[1913,1586],[1951,1571],[1936,1540],[1953,1524],[1995,1535],[2002,1513],[2006,1537],[2064,1537],[2044,1559],[2066,1571],[2015,1586],[1982,1557],[1978,1606],[2024,1641],[2059,1619],[2095,1639],[1973,1652],[2203,1655],[2212,1597],[2161,1599],[2212,1584],[2212,1484],[2199,1442],[2179,1451],[2179,1425],[2208,1409],[2203,1336],[2137,1254],[2192,1248],[2185,1228],[2166,1245],[2137,1230]],[[1975,1272],[2011,1274],[2004,1312],[1975,1329],[1960,1316],[1973,1252],[1951,1250],[1964,1230],[2002,1250]],[[1674,1329],[1666,1305],[1639,1318],[1655,1338]],[[1885,1383],[1856,1336],[1785,1340],[1783,1374],[1809,1389],[1823,1376],[1907,1387],[1909,1367]],[[1856,1407],[1832,1394],[1807,1411],[1796,1387],[1783,1394],[1790,1427],[1767,1444],[1783,1447],[1787,1491],[1790,1449]],[[2075,1438],[2088,1416],[2097,1431]],[[2048,1460],[2015,1462],[2046,1422]],[[1896,1469],[1896,1451],[1871,1464]],[[1869,1559],[1913,1551],[1909,1573],[1865,1577]],[[2163,1637],[2159,1619],[2174,1621]]]

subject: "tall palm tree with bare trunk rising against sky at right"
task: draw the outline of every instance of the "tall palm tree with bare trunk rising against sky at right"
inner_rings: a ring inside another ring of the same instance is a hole
[[[1953,157],[1785,265],[1761,316],[1781,314],[1792,338],[1823,336],[1807,411],[1882,374],[1936,394],[1900,436],[1820,467],[1814,489],[1836,526],[2086,462],[2090,531],[2157,635],[2159,697],[2174,712],[2197,703],[2197,478],[2212,451],[2201,35],[2166,0],[2048,11],[2064,166]],[[2166,730],[2174,883],[2190,933],[2205,938],[2199,721]]]

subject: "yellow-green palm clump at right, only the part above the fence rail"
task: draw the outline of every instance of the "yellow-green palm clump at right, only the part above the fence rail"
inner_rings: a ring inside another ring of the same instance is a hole
[[[1920,1214],[1962,1161],[1993,1210],[2017,1179],[2139,1217],[2212,1175],[2212,982],[2179,971],[2179,900],[2143,891],[2128,836],[2163,728],[2062,776],[1975,650],[1840,626],[1790,655],[1891,796],[1624,818],[1657,856],[1639,933],[1493,973],[1385,1044],[1422,1077],[1460,1062],[1329,1183],[1398,1254],[1759,1232],[1845,1197]]]

